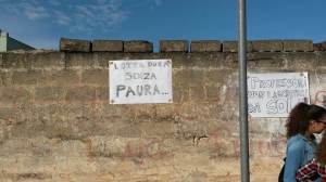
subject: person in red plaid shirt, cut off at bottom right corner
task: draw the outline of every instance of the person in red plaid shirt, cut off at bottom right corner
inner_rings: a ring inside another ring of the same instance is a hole
[[[326,125],[326,120],[325,120]],[[326,182],[326,132],[324,132],[322,142],[318,144],[315,157],[308,165],[297,172],[298,181],[311,181],[315,177],[322,177],[322,182]]]

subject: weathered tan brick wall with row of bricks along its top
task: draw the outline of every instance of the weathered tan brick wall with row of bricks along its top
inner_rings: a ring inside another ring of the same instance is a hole
[[[0,54],[0,181],[239,181],[235,42],[188,52],[163,41],[160,53],[143,41],[82,43]],[[250,47],[249,72],[309,72],[311,101],[324,102],[322,44]],[[109,104],[108,62],[142,58],[172,58],[174,103]],[[249,119],[252,181],[276,181],[284,123]]]

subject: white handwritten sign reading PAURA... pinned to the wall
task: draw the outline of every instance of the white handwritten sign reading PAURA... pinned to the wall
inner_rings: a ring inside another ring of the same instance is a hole
[[[171,60],[111,61],[110,103],[172,103]]]

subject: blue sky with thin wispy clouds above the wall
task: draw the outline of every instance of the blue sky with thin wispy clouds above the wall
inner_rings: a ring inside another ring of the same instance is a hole
[[[326,0],[247,0],[247,38],[326,41]],[[0,0],[0,29],[38,49],[73,39],[236,40],[238,0]]]

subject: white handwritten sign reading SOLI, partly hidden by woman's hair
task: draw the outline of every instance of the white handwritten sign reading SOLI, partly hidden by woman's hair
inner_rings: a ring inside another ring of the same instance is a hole
[[[287,117],[299,102],[310,102],[308,73],[248,75],[248,112],[252,117]]]

